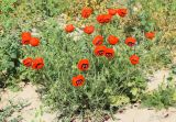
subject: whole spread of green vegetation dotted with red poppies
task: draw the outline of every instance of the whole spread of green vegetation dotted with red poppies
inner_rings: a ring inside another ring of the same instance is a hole
[[[0,2],[0,87],[20,81],[42,85],[45,102],[69,121],[77,113],[98,112],[101,118],[102,111],[139,101],[146,88],[145,74],[170,64],[175,44],[165,33],[170,30],[163,31],[167,26],[148,7],[167,5],[174,14],[174,5],[157,0],[66,1]],[[61,27],[57,15],[63,13],[67,25]],[[82,34],[75,41],[78,30]]]

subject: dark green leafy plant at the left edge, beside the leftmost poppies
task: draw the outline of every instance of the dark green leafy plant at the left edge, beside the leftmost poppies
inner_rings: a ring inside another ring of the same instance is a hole
[[[16,68],[20,66],[21,49],[16,35],[6,34],[1,35],[0,38],[0,86],[3,87],[6,84],[15,84],[9,82],[9,80],[13,80],[18,74]]]

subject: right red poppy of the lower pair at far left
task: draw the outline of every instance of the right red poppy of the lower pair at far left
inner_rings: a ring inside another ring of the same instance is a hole
[[[33,69],[42,69],[44,67],[44,60],[42,57],[35,58],[32,64]]]

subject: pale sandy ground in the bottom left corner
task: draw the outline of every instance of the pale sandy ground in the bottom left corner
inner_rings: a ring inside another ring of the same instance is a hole
[[[12,117],[16,114],[23,118],[22,122],[53,122],[55,120],[56,113],[46,112],[46,109],[36,92],[36,87],[31,84],[20,85],[23,87],[22,91],[12,92],[8,89],[1,92],[0,108],[9,106],[9,100],[12,100],[14,103],[26,102],[29,106],[23,108],[19,112],[14,112]],[[44,113],[42,113],[44,111]]]

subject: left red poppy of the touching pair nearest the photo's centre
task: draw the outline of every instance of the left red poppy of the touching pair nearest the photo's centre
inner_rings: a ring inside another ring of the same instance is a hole
[[[96,56],[103,56],[106,53],[107,47],[105,45],[96,46],[95,55]]]

